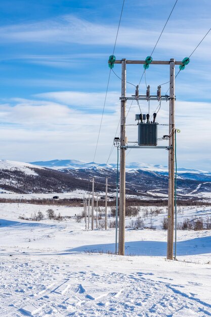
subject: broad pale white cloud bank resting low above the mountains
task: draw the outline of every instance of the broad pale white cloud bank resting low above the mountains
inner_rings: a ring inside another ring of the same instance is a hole
[[[61,104],[58,100],[55,102],[55,99],[62,99],[69,103],[69,95],[51,94],[47,97],[50,99],[52,96],[53,101],[13,99],[11,105],[10,103],[1,105],[0,141],[2,153],[7,153],[3,158],[20,161],[64,159],[65,157],[85,161],[93,160],[101,113],[91,111],[84,113],[70,105]],[[114,93],[114,95],[116,103],[114,111],[112,114],[105,112],[103,117],[96,155],[96,161],[99,162],[107,161],[119,122],[120,102],[118,94]],[[80,94],[73,96],[74,103],[80,104]],[[40,97],[41,95],[39,95]],[[92,97],[92,93],[86,94],[88,100],[92,100]],[[95,98],[93,99],[95,100]],[[95,106],[97,104],[98,98],[95,100]],[[151,113],[156,106],[157,102],[151,103]],[[130,102],[128,102],[127,109],[129,107]],[[142,102],[141,107],[143,113],[146,113],[147,103]],[[205,159],[208,160],[211,156],[209,108],[210,103],[176,102],[176,127],[181,130],[181,133],[177,134],[179,166],[197,166],[201,169],[206,166]],[[135,125],[126,126],[129,141],[137,140],[136,113],[139,113],[139,108],[133,104],[126,120],[126,124]],[[168,103],[162,103],[157,121],[159,124],[168,124]],[[168,126],[158,126],[159,136],[167,132]],[[159,144],[167,145],[167,142],[160,141]],[[116,152],[113,151],[110,162],[115,161]],[[167,152],[165,150],[132,150],[127,156],[127,161],[165,165],[167,164]]]

